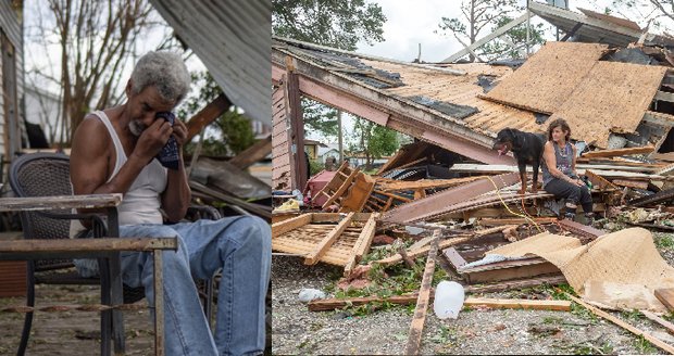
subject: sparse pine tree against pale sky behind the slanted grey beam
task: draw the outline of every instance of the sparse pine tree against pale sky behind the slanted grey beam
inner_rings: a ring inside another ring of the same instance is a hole
[[[462,46],[467,47],[490,31],[508,24],[513,16],[521,13],[523,7],[517,0],[463,0],[461,2],[461,17],[442,17],[438,24],[437,34],[453,36]],[[529,43],[544,43],[542,24],[531,27]],[[503,56],[520,58],[519,48],[526,44],[526,25],[519,25],[501,38],[482,46],[475,50],[480,60],[490,61]],[[513,50],[514,48],[514,50]],[[477,60],[470,54],[470,61]]]

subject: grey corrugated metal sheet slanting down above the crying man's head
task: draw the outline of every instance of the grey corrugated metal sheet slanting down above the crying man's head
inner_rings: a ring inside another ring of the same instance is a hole
[[[246,116],[272,123],[272,3],[150,0]]]

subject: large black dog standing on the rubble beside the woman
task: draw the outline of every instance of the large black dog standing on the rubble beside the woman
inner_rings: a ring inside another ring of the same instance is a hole
[[[517,167],[520,168],[520,180],[522,180],[522,189],[519,191],[520,194],[524,194],[526,191],[527,164],[531,164],[534,168],[532,192],[535,193],[538,190],[538,167],[540,166],[540,160],[542,158],[545,137],[542,135],[524,132],[514,128],[504,128],[496,136],[496,143],[494,143],[492,149],[498,150],[499,155],[507,154],[508,151],[512,151],[515,160],[517,161]]]

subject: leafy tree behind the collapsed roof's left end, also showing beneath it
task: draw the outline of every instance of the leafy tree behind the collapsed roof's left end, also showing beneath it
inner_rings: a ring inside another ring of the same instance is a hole
[[[353,51],[360,40],[384,41],[382,7],[364,0],[272,0],[276,36]],[[304,129],[336,137],[337,110],[302,99]]]

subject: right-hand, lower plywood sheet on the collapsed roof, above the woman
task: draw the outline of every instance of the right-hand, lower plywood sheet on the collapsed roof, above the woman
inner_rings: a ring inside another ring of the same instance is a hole
[[[597,62],[550,120],[564,118],[574,139],[606,148],[611,131],[636,130],[665,72],[664,66]]]

